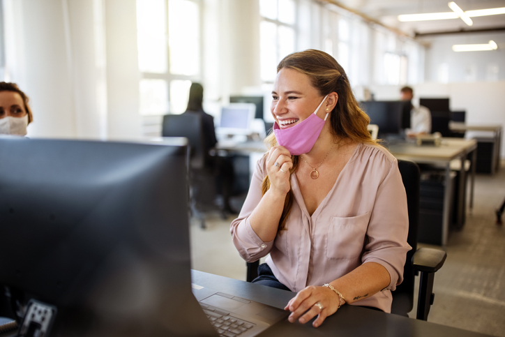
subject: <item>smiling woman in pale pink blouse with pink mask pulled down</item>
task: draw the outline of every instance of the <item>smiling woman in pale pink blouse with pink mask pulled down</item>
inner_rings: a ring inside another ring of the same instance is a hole
[[[389,312],[402,282],[407,198],[397,160],[370,137],[344,69],[319,50],[280,61],[270,149],[231,224],[255,283],[297,292],[289,321],[319,327],[343,304]]]

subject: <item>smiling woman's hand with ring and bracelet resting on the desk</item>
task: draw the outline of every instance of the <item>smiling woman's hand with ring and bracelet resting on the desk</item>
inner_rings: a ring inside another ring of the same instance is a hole
[[[317,328],[324,322],[326,317],[333,315],[340,305],[340,297],[329,287],[317,287],[309,285],[293,297],[284,310],[291,311],[289,322],[299,320],[305,324],[317,315],[312,326]]]

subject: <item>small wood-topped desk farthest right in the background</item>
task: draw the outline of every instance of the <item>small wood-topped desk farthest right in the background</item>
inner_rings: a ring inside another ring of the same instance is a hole
[[[490,162],[488,162],[490,167],[489,170],[483,170],[483,172],[495,174],[499,170],[503,133],[501,125],[467,125],[465,123],[451,122],[449,123],[449,128],[456,132],[475,131],[476,135],[474,138],[478,143],[492,143],[491,158]],[[491,136],[482,135],[482,133],[490,133]],[[486,159],[488,158],[484,158],[483,161],[486,161]]]

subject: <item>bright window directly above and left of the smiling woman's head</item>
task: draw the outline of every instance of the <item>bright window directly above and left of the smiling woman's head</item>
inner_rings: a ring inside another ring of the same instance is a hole
[[[273,82],[282,58],[296,50],[296,3],[294,0],[259,0],[261,77]]]

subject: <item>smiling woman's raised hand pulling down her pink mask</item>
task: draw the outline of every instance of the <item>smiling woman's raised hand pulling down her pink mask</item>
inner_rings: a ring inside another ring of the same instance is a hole
[[[271,190],[284,195],[289,192],[289,170],[292,167],[291,153],[285,147],[271,147],[266,157]]]

